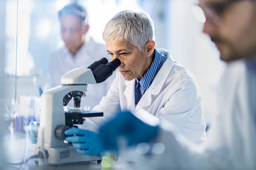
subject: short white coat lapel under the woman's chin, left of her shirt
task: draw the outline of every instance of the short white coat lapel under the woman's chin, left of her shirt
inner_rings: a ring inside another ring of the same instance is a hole
[[[135,109],[135,94],[134,94],[135,79],[131,81],[125,81],[125,85],[126,87],[124,90],[124,95],[127,101],[127,109],[134,110]]]

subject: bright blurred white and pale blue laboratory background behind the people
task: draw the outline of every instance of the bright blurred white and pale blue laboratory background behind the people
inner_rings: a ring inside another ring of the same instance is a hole
[[[202,33],[205,18],[196,0],[1,0],[0,103],[5,120],[13,119],[17,110],[40,108],[47,60],[51,52],[64,45],[57,14],[71,2],[87,8],[89,34],[103,44],[105,24],[116,13],[146,11],[155,23],[156,48],[169,50],[195,75],[202,91],[205,119],[210,125],[224,63],[210,38]],[[33,119],[37,120],[38,115]]]

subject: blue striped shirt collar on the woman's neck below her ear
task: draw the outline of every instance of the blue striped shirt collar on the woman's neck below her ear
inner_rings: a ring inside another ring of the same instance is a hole
[[[138,81],[138,79],[136,78],[137,84],[140,83],[141,87],[145,90],[149,88],[154,77],[156,76],[156,73],[161,68],[161,66],[163,65],[163,63],[167,58],[166,56],[161,55],[160,52],[156,49],[154,50],[154,52],[155,52],[155,57],[148,71],[141,78],[141,81]]]

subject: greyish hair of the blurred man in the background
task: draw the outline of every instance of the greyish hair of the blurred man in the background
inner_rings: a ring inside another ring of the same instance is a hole
[[[63,14],[76,15],[82,20],[82,23],[84,26],[86,26],[88,24],[87,10],[84,7],[82,7],[76,3],[72,3],[72,4],[64,6],[58,13],[59,18],[61,18],[61,16]]]

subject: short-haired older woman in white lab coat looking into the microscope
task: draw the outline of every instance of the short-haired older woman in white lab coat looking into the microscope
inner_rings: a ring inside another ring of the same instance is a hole
[[[77,152],[99,155],[102,145],[92,131],[125,110],[145,110],[175,124],[188,140],[201,143],[205,120],[195,79],[167,50],[155,49],[149,15],[131,10],[116,14],[107,23],[103,39],[112,60],[118,58],[121,65],[107,95],[93,109],[103,111],[104,117],[87,118],[81,129],[65,132],[77,135],[66,138]]]

